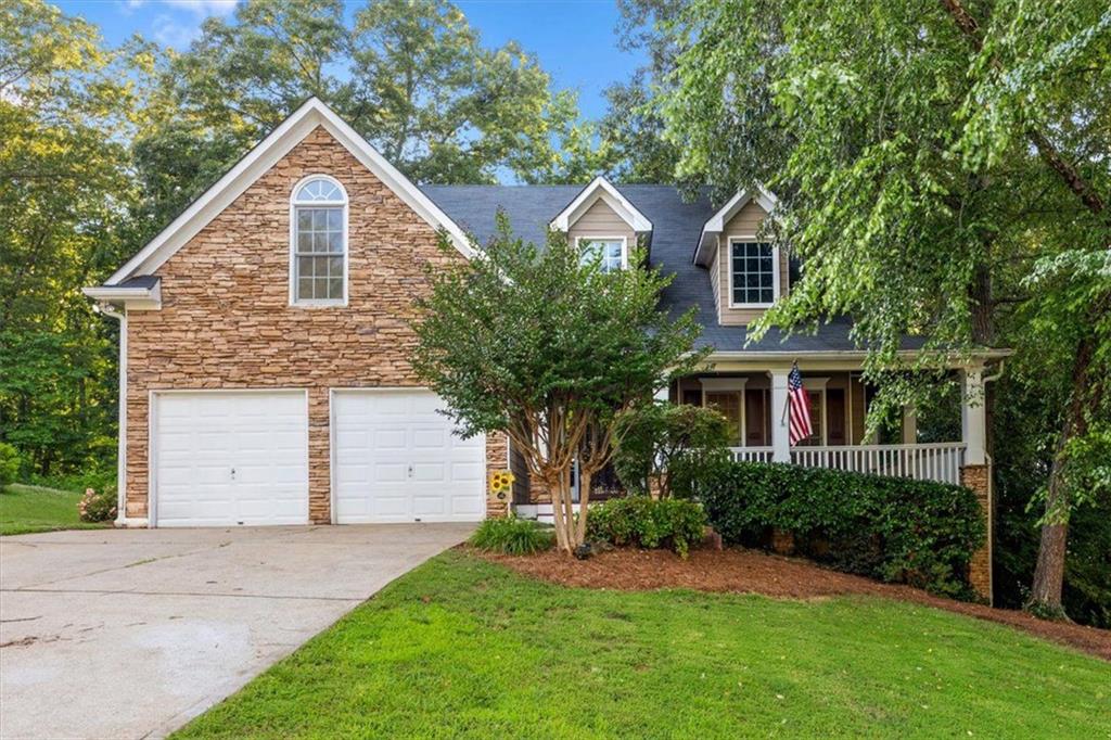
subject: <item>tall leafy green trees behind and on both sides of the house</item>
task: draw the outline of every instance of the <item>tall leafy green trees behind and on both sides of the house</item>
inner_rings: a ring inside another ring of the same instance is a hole
[[[419,183],[767,183],[805,264],[767,323],[852,312],[890,403],[940,394],[897,373],[902,333],[1014,348],[997,600],[1028,601],[1060,534],[1064,610],[1111,626],[1111,11],[812,4],[623,0],[614,42],[649,63],[585,120],[449,2],[250,0],[180,52],[2,3],[0,442],[26,480],[113,479],[118,324],[80,288],[318,96]]]

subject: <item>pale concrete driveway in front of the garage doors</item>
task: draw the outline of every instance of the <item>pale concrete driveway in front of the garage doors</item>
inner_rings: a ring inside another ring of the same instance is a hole
[[[166,734],[471,524],[0,539],[0,737]]]

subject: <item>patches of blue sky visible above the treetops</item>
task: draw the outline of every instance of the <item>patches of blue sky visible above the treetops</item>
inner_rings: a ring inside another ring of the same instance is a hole
[[[208,16],[229,16],[234,0],[66,0],[66,13],[100,26],[109,43],[132,33],[183,49]],[[349,12],[363,2],[351,2]],[[556,87],[579,91],[582,113],[605,112],[602,90],[629,79],[642,63],[639,53],[618,48],[618,10],[607,0],[457,0],[483,43],[516,39],[534,52]]]

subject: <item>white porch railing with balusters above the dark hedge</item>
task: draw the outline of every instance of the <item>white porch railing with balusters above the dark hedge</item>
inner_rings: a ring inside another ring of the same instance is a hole
[[[730,451],[733,459],[739,461],[772,460],[770,447],[734,447]],[[791,462],[805,468],[830,468],[873,476],[960,483],[964,443],[795,447],[791,449]]]

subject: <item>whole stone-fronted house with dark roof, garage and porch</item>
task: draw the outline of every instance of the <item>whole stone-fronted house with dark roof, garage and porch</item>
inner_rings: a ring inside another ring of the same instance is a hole
[[[504,438],[462,440],[409,363],[424,267],[471,258],[504,210],[542,242],[565,231],[608,269],[630,248],[675,273],[669,309],[699,309],[712,369],[674,401],[718,407],[740,459],[964,482],[990,506],[985,350],[953,367],[968,391],[962,436],[867,439],[864,353],[833,322],[812,336],[747,327],[791,289],[792,266],[760,239],[775,204],[738,193],[714,207],[669,186],[418,187],[313,99],[283,121],[142,251],[87,296],[119,319],[121,526],[203,527],[478,520],[550,503],[521,484]],[[453,253],[438,248],[444,232]],[[914,352],[909,342],[905,351]],[[788,444],[780,409],[798,361],[814,434]],[[985,566],[980,563],[981,569]],[[985,572],[985,571],[984,571]],[[985,574],[982,574],[987,578]]]

